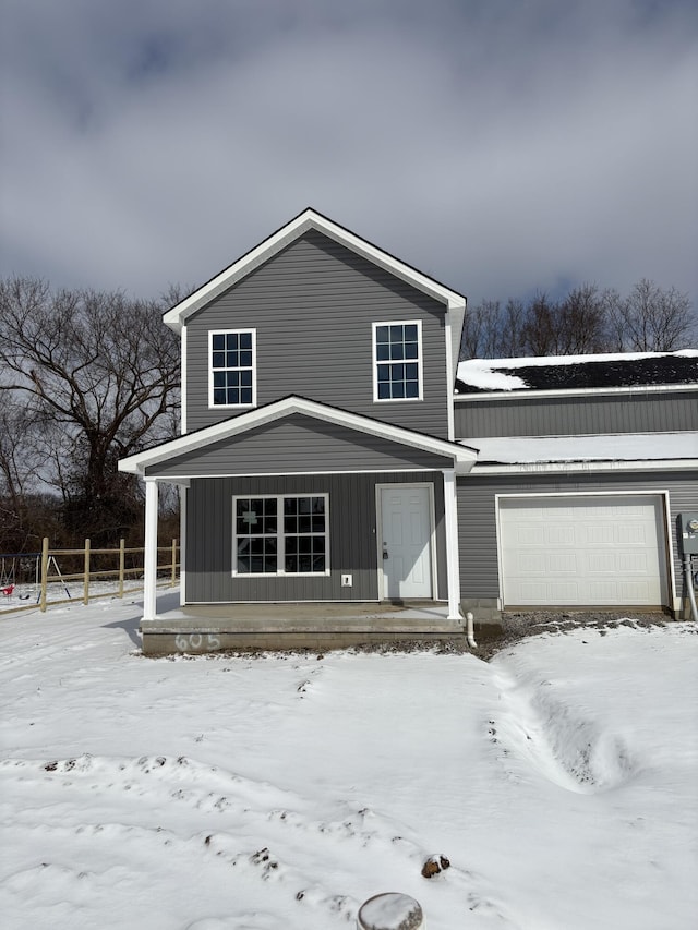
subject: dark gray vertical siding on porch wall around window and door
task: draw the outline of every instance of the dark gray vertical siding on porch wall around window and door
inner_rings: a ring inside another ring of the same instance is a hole
[[[195,479],[186,503],[186,601],[376,601],[376,484],[434,487],[438,596],[447,597],[441,472]],[[329,576],[232,577],[232,498],[244,494],[329,495]],[[353,587],[342,588],[342,573]]]

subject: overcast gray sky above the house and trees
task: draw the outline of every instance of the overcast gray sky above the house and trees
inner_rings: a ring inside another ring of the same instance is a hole
[[[696,302],[695,0],[0,11],[2,275],[155,297],[312,206],[474,302]]]

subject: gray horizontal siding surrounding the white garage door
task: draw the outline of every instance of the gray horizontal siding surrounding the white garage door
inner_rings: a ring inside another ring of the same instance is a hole
[[[495,494],[586,493],[628,491],[637,494],[669,491],[672,552],[676,593],[683,596],[682,565],[676,543],[676,516],[698,510],[698,482],[690,471],[583,475],[482,475],[458,479],[460,584],[464,597],[498,597]]]

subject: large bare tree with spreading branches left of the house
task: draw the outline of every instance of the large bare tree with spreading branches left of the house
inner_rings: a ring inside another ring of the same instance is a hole
[[[0,391],[43,424],[44,478],[75,532],[116,538],[137,519],[120,457],[172,435],[179,349],[155,302],[0,282]]]

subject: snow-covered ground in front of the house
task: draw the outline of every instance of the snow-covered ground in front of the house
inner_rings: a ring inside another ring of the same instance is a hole
[[[139,617],[0,618],[7,930],[333,930],[386,891],[429,930],[697,926],[695,625],[172,661]]]

